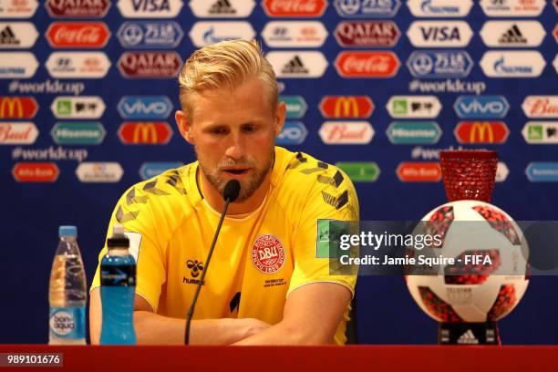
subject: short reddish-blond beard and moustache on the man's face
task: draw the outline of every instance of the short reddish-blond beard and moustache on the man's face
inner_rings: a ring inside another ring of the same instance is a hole
[[[217,191],[219,191],[220,194],[222,194],[222,191],[224,190],[224,187],[228,181],[224,177],[219,175],[219,170],[222,167],[230,167],[232,165],[248,165],[250,167],[253,166],[252,163],[248,163],[245,160],[238,160],[238,161],[224,160],[219,163],[216,170],[211,170],[205,166],[205,162],[204,160],[202,160],[202,158],[200,158],[200,152],[198,151],[198,148],[195,145],[194,145],[194,151],[196,153],[196,157],[198,158],[198,163],[200,164],[200,169],[202,170],[203,175],[205,176],[207,181],[209,181],[212,184],[212,186],[215,189],[217,189]],[[252,179],[248,181],[240,181],[241,191],[235,202],[245,202],[253,195],[253,193],[256,190],[258,190],[258,188],[262,185],[265,176],[267,176],[267,173],[269,173],[272,170],[274,166],[274,160],[275,160],[275,149],[273,147],[271,156],[269,157],[269,162],[263,167],[263,169],[260,170],[255,167],[252,167],[252,171],[253,171]]]

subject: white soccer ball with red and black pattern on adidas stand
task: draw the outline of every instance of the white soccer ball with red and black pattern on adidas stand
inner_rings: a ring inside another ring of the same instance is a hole
[[[529,247],[517,223],[500,208],[449,202],[422,218],[413,231],[419,233],[439,234],[441,244],[408,247],[409,256],[417,262],[420,255],[455,260],[408,266],[408,290],[427,315],[439,322],[496,321],[522,299],[529,284]]]

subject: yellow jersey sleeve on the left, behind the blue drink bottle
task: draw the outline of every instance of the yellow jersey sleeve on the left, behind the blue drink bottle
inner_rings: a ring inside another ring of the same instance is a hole
[[[150,196],[138,185],[126,191],[112,213],[107,237],[112,235],[115,224],[124,226],[125,233],[129,237],[129,253],[134,256],[137,263],[136,294],[145,298],[156,313],[161,285],[166,278],[166,262],[158,239]],[[107,253],[106,242],[107,240],[98,255],[98,266],[89,292],[100,286],[99,268],[103,256]]]

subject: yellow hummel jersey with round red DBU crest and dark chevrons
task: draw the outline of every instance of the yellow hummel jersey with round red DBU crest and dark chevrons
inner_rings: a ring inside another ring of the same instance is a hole
[[[160,315],[184,318],[199,283],[220,212],[203,198],[198,162],[135,184],[109,223],[124,225],[138,263],[136,294]],[[301,153],[275,148],[264,202],[241,218],[226,217],[194,319],[257,318],[276,324],[286,296],[316,282],[335,282],[354,294],[356,275],[330,274],[318,249],[318,222],[357,221],[356,191],[345,173]],[[99,263],[107,253],[100,252]],[[91,289],[98,287],[99,267]],[[346,342],[344,319],[335,341]]]

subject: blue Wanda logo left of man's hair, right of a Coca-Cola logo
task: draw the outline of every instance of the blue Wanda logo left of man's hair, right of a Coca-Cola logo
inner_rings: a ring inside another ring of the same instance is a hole
[[[169,21],[125,22],[118,32],[122,47],[177,47],[184,36],[181,26]]]

